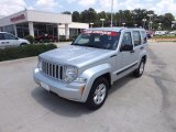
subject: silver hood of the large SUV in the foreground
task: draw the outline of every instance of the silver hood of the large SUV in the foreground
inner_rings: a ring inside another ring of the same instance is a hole
[[[69,45],[43,53],[40,57],[53,63],[84,67],[106,57],[108,58],[113,53],[114,51],[109,50]]]

